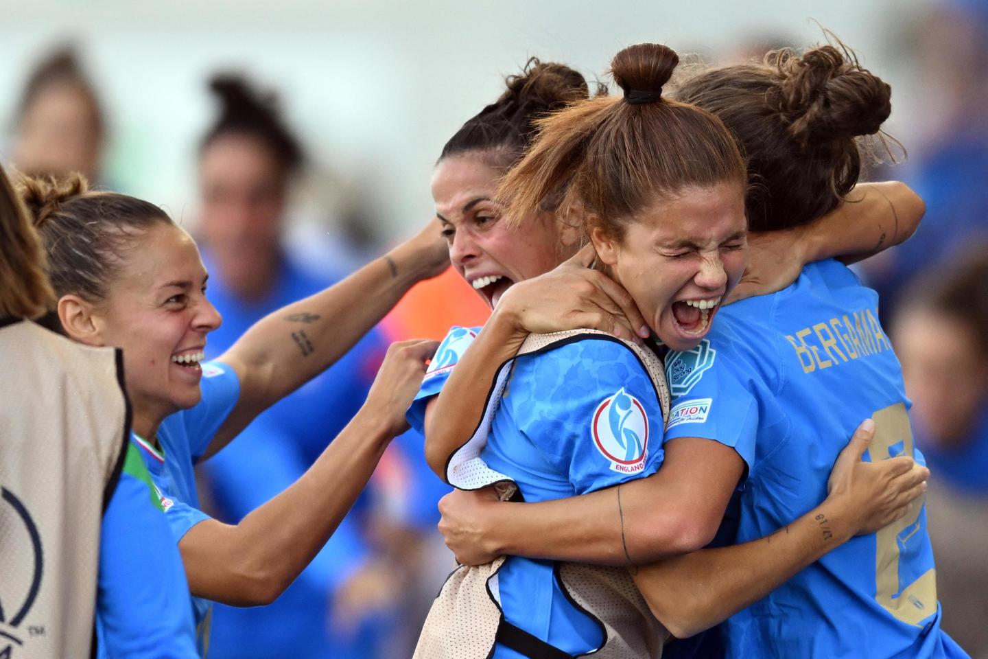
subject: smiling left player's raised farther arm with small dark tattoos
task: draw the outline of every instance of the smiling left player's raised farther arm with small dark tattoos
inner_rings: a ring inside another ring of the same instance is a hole
[[[262,318],[218,358],[236,371],[240,397],[206,457],[226,446],[255,416],[336,363],[414,284],[449,266],[437,222],[336,286]]]

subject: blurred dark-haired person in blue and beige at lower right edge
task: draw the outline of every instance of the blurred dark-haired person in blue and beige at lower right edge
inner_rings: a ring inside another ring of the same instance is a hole
[[[896,352],[928,505],[944,628],[988,657],[988,243],[919,279],[896,313]]]

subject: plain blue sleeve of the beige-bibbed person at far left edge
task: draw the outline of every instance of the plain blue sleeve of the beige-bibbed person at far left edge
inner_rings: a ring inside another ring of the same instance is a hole
[[[132,445],[127,452],[100,531],[100,656],[198,657],[178,546],[152,503],[146,467]]]

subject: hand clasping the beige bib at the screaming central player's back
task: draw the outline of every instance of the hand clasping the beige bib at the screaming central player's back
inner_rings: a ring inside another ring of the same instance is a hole
[[[453,490],[439,501],[443,519],[439,531],[456,560],[464,565],[483,565],[498,557],[489,546],[485,521],[491,506],[501,505],[493,487]]]

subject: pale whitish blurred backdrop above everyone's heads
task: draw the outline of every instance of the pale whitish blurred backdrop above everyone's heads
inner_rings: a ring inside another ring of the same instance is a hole
[[[0,118],[15,114],[31,66],[74,41],[110,123],[106,181],[195,221],[196,146],[214,112],[205,81],[217,69],[240,70],[280,92],[317,165],[310,186],[358,184],[386,235],[430,215],[429,177],[443,144],[530,55],[603,76],[636,41],[721,60],[760,41],[819,41],[815,20],[893,85],[895,131],[915,117],[903,41],[926,4],[2,0]]]

